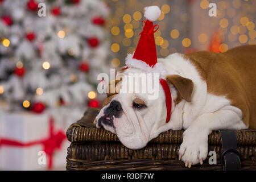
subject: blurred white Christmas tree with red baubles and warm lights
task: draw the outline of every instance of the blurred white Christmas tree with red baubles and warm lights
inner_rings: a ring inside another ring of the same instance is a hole
[[[1,107],[99,106],[97,75],[110,68],[108,13],[98,0],[0,1]]]

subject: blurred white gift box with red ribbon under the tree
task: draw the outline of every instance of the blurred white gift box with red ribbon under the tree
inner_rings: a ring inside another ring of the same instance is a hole
[[[53,121],[47,111],[0,114],[0,169],[63,169],[69,142],[61,122]],[[41,160],[42,154],[46,160]]]

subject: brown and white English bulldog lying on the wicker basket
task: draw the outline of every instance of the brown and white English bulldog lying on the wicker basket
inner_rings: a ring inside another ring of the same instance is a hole
[[[170,122],[166,122],[161,86],[155,100],[148,99],[149,93],[120,92],[124,84],[120,77],[146,73],[123,68],[115,80],[116,93],[108,95],[96,117],[98,128],[103,126],[134,150],[164,131],[184,129],[179,160],[186,167],[202,164],[207,158],[208,135],[213,130],[256,129],[256,46],[225,53],[173,53],[159,58],[158,63],[164,68],[172,96]]]

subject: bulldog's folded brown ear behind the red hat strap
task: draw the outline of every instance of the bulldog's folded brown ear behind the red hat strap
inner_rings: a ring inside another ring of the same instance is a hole
[[[191,102],[191,94],[194,86],[192,80],[179,75],[168,75],[166,80],[175,86],[179,97],[183,98],[187,102]]]

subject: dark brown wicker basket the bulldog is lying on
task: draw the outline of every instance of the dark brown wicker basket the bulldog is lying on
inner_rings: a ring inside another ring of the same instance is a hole
[[[126,148],[115,134],[104,129],[96,129],[92,123],[98,110],[89,109],[83,118],[73,123],[67,130],[68,147],[67,170],[220,170],[222,152],[218,131],[209,135],[208,150],[216,151],[217,164],[185,168],[177,160],[183,130],[166,131],[151,140],[139,150]],[[241,154],[241,169],[256,170],[256,130],[236,131],[238,150]]]

